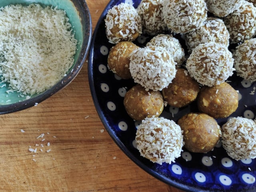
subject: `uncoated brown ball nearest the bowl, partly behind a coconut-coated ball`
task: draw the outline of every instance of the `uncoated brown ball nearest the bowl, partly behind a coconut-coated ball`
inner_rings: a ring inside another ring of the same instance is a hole
[[[130,56],[139,47],[130,41],[123,41],[113,46],[108,54],[108,68],[123,79],[132,78]]]

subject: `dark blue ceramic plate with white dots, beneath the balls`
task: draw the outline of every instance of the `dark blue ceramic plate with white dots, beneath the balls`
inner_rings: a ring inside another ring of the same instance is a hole
[[[126,2],[136,8],[140,0],[111,0],[102,13],[95,28],[89,52],[89,82],[94,104],[106,130],[138,166],[152,176],[188,192],[255,192],[256,160],[236,161],[230,158],[221,144],[206,154],[188,152],[185,148],[180,158],[172,164],[156,164],[140,156],[135,148],[136,126],[126,113],[123,105],[124,95],[134,86],[133,80],[124,80],[116,76],[107,67],[110,44],[105,34],[104,18],[114,5]],[[179,36],[176,36],[180,39]],[[135,44],[144,46],[151,37],[141,36]],[[184,43],[180,39],[181,43]],[[231,116],[255,118],[256,83],[251,84],[234,74],[228,82],[239,90],[239,106]],[[161,116],[177,120],[188,112],[196,112],[196,104],[184,108],[166,106]],[[226,119],[218,119],[220,125]]]

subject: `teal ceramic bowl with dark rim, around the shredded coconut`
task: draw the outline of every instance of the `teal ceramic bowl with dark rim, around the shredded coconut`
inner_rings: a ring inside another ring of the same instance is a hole
[[[58,9],[66,11],[74,31],[74,36],[78,40],[74,64],[68,70],[67,75],[54,86],[42,93],[30,95],[29,99],[26,99],[26,97],[20,98],[19,92],[7,93],[8,84],[7,86],[3,86],[6,83],[0,84],[0,114],[16,112],[35,106],[66,87],[74,80],[82,68],[88,54],[92,38],[92,20],[86,0],[8,0],[0,1],[0,7],[9,4],[22,4],[26,6],[32,3],[40,4],[41,6],[57,6]]]

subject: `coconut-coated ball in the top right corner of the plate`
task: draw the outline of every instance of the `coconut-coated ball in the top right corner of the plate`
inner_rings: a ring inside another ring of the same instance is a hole
[[[256,8],[246,0],[224,18],[232,43],[252,38],[256,33]]]

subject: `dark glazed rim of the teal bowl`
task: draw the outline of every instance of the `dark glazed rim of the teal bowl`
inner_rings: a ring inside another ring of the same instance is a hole
[[[29,98],[29,99],[22,100],[20,102],[8,104],[8,105],[0,105],[0,114],[8,114],[8,113],[24,110],[32,106],[36,106],[37,104],[46,100],[56,92],[68,86],[68,84],[70,84],[72,80],[76,78],[76,76],[80,72],[86,60],[86,57],[90,48],[90,44],[92,41],[92,18],[91,18],[90,10],[88,8],[86,0],[78,0],[78,2],[79,2],[78,5],[82,10],[81,15],[83,16],[83,17],[80,16],[81,22],[82,20],[87,20],[88,24],[86,26],[82,26],[84,29],[84,32],[83,32],[83,40],[82,40],[80,55],[78,56],[78,59],[74,64],[73,69],[68,73],[68,75],[64,76],[60,81],[58,81],[50,89],[34,96],[33,98]],[[86,31],[88,32],[86,33]]]

